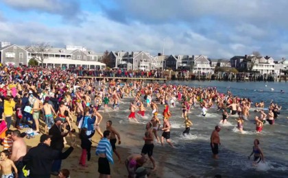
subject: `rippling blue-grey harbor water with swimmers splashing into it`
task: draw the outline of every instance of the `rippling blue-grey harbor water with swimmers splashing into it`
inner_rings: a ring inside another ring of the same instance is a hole
[[[157,174],[160,177],[288,177],[288,84],[276,82],[226,82],[226,81],[169,81],[167,84],[182,84],[195,87],[217,87],[219,92],[230,90],[239,97],[249,97],[252,102],[264,101],[267,107],[273,99],[282,105],[280,115],[275,125],[264,125],[261,133],[255,132],[254,116],[258,113],[250,110],[250,120],[243,125],[244,133],[239,133],[236,128],[236,116],[230,116],[228,123],[222,125],[219,132],[221,146],[219,146],[219,160],[212,159],[210,136],[221,120],[221,112],[216,107],[208,109],[206,117],[201,115],[201,108],[196,105],[189,114],[193,122],[189,136],[182,136],[184,120],[181,118],[180,103],[170,107],[172,116],[171,141],[176,148],[171,148],[165,142],[164,147],[154,142],[154,159],[157,165]],[[271,88],[274,90],[272,91]],[[280,90],[286,90],[281,93]],[[120,147],[131,149],[132,153],[141,153],[145,124],[152,118],[152,110],[147,110],[145,117],[138,116],[139,123],[128,120],[130,114],[129,102],[132,98],[124,98],[117,112],[107,112],[114,127],[121,133],[122,144]],[[161,123],[163,123],[163,105],[159,105]],[[267,111],[265,111],[267,113]],[[162,131],[158,132],[160,137]],[[252,165],[248,155],[252,151],[255,138],[260,140],[260,147],[265,156],[265,163]],[[127,143],[127,144],[125,144]],[[128,144],[132,143],[132,144]],[[148,161],[147,167],[151,167]]]

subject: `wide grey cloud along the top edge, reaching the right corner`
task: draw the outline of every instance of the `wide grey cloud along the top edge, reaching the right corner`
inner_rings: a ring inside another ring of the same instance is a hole
[[[285,7],[288,1],[269,0],[112,0],[117,7],[111,3],[105,4],[101,1],[108,16],[116,21],[141,21],[144,23],[167,23],[171,21],[191,22],[203,16],[213,16],[230,21],[246,21],[248,23],[269,23],[273,21],[278,25],[283,24],[287,16]],[[112,8],[110,8],[112,7]],[[119,13],[111,14],[112,10]],[[121,18],[117,14],[121,14]]]

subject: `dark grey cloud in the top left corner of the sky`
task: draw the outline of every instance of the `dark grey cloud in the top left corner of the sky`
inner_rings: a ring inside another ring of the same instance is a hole
[[[3,0],[3,3],[19,11],[36,11],[40,13],[57,14],[63,21],[69,23],[84,20],[79,1],[69,0]]]

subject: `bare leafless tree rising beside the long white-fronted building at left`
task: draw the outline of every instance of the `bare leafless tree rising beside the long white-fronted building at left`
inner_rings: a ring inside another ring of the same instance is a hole
[[[32,44],[30,47],[36,53],[36,58],[34,58],[34,60],[40,62],[41,66],[43,66],[43,61],[45,60],[45,58],[49,57],[45,53],[47,53],[52,48],[49,42],[40,42],[37,44]]]

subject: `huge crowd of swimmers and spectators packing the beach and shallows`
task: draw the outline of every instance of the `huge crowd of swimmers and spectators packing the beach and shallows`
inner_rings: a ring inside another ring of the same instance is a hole
[[[80,70],[81,71],[81,70]],[[79,164],[87,166],[86,160],[91,159],[91,138],[97,132],[101,137],[97,145],[96,155],[99,156],[99,177],[110,177],[110,164],[114,164],[113,154],[117,155],[121,162],[121,154],[118,153],[116,144],[121,144],[121,134],[112,127],[112,120],[108,120],[104,126],[101,123],[103,116],[100,112],[106,110],[117,112],[123,98],[131,98],[130,114],[128,119],[137,122],[137,117],[145,116],[145,112],[152,112],[152,118],[146,124],[141,154],[130,155],[125,160],[125,166],[129,177],[141,177],[149,175],[143,167],[148,155],[153,164],[152,170],[156,170],[156,161],[153,157],[154,140],[164,146],[164,140],[170,147],[172,116],[170,107],[179,107],[182,110],[184,122],[183,135],[189,134],[193,125],[189,120],[191,108],[200,105],[202,116],[205,117],[209,108],[217,105],[218,111],[223,112],[220,124],[225,124],[231,116],[237,116],[237,127],[243,131],[244,120],[250,118],[252,101],[248,98],[220,93],[217,88],[191,88],[182,85],[149,84],[143,81],[131,80],[123,82],[114,79],[84,79],[77,78],[90,71],[71,71],[60,68],[24,68],[3,66],[0,68],[0,117],[1,125],[6,125],[5,137],[3,137],[3,149],[1,152],[0,166],[2,175],[18,175],[26,177],[50,177],[59,175],[69,177],[68,170],[62,170],[62,160],[66,159],[75,147],[75,135],[81,140],[82,155]],[[134,74],[127,71],[97,71],[92,76],[129,76]],[[127,73],[126,73],[127,72]],[[114,73],[111,75],[111,73]],[[127,75],[126,75],[127,74]],[[89,74],[90,75],[90,74]],[[139,71],[136,76],[158,76],[158,72]],[[102,106],[102,103],[104,105]],[[181,103],[177,105],[176,103]],[[269,104],[269,112],[265,114],[264,103],[256,103],[259,116],[255,116],[256,131],[263,130],[266,121],[272,125],[277,118],[281,107],[273,101]],[[164,105],[163,112],[159,106]],[[122,107],[123,108],[123,107]],[[162,116],[161,116],[162,115]],[[163,117],[160,120],[158,117]],[[267,117],[267,118],[266,118]],[[40,121],[43,120],[43,121]],[[14,129],[10,129],[14,123]],[[76,127],[73,128],[73,123]],[[41,130],[40,125],[45,129]],[[27,150],[23,137],[30,138],[27,132],[21,133],[24,126],[34,129],[33,133],[41,134],[38,146]],[[105,127],[102,133],[100,127]],[[218,145],[220,144],[217,125],[211,134],[211,150],[213,157],[217,159]],[[162,131],[160,138],[158,131]],[[79,133],[79,134],[78,134]],[[71,147],[64,150],[67,144],[66,137],[72,140]],[[43,154],[45,153],[45,154]],[[264,161],[263,151],[259,147],[259,140],[254,141],[254,161]],[[250,155],[250,156],[251,156]],[[250,158],[249,156],[249,158]],[[13,172],[12,172],[13,170]],[[68,172],[67,172],[68,171]]]

